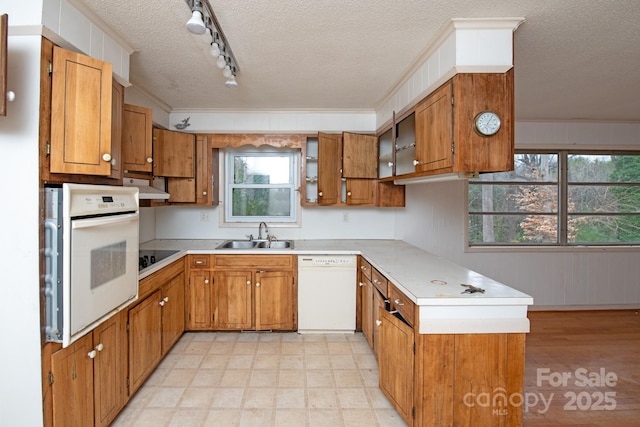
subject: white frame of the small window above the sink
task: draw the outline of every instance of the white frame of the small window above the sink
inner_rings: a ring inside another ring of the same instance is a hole
[[[299,163],[300,163],[300,150],[299,149],[283,149],[274,147],[239,147],[228,148],[223,150],[223,164],[224,164],[224,218],[221,225],[226,226],[248,226],[255,225],[261,222],[266,222],[270,225],[279,226],[299,226],[300,221],[300,191],[299,191]],[[237,156],[249,156],[249,157],[282,157],[286,156],[290,159],[289,173],[291,181],[288,184],[236,184],[234,183],[234,158]],[[232,212],[233,208],[233,189],[234,188],[260,188],[260,189],[282,189],[286,188],[290,190],[289,203],[290,203],[290,215],[284,216],[234,216]]]

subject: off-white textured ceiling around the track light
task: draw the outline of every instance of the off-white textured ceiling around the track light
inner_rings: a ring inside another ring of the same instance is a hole
[[[135,49],[131,82],[171,108],[374,109],[451,18],[525,17],[518,120],[640,121],[638,0],[209,0],[236,89],[184,0],[83,2]]]

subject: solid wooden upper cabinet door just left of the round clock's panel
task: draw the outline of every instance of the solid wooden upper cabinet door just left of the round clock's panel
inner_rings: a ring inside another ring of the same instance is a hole
[[[416,171],[453,165],[452,84],[445,84],[416,107]]]

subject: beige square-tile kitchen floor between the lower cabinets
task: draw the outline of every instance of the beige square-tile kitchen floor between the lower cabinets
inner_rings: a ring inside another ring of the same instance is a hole
[[[112,426],[406,426],[361,333],[190,332]]]

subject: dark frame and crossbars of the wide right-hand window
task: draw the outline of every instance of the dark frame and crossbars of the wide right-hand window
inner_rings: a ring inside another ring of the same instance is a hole
[[[519,154],[552,154],[557,155],[558,157],[558,173],[556,181],[541,181],[541,184],[553,184],[555,182],[555,186],[557,188],[557,213],[555,214],[558,221],[557,234],[556,234],[556,242],[555,243],[535,243],[535,242],[526,242],[526,243],[491,243],[491,242],[471,242],[471,217],[473,215],[482,216],[485,214],[498,214],[498,215],[522,215],[522,213],[518,212],[486,212],[482,211],[472,211],[469,206],[469,197],[472,185],[522,185],[523,181],[487,181],[483,183],[482,181],[472,181],[467,180],[465,183],[465,247],[466,251],[486,251],[492,249],[508,249],[512,250],[539,250],[539,249],[547,249],[550,251],[557,250],[577,250],[577,249],[586,249],[586,250],[603,250],[603,249],[640,249],[640,242],[634,243],[616,243],[616,242],[570,242],[569,241],[569,217],[571,213],[569,212],[569,189],[570,186],[637,186],[640,187],[640,181],[633,182],[624,182],[624,183],[614,183],[611,181],[577,181],[569,183],[568,181],[568,167],[569,167],[569,157],[572,155],[603,155],[603,156],[612,156],[612,155],[628,155],[628,156],[640,156],[640,151],[637,150],[592,150],[592,149],[571,149],[571,148],[562,148],[562,149],[526,149],[519,148],[515,150],[514,155]],[[534,213],[535,212],[530,212]],[[530,214],[529,212],[527,214]],[[540,214],[547,214],[546,212],[538,212]],[[575,213],[573,213],[575,214]],[[578,212],[579,215],[584,216],[594,216],[594,215],[606,215],[606,216],[624,216],[624,215],[634,215],[635,213],[622,213],[622,212],[605,212],[605,213],[587,213],[587,212]]]

